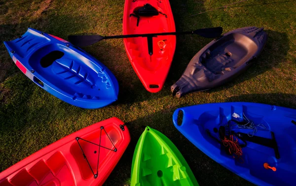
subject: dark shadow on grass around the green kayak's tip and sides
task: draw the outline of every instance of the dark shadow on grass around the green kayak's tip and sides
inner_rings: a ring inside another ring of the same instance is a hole
[[[119,186],[130,184],[135,147],[142,132],[145,130],[145,126],[148,125],[166,135],[176,145],[201,186],[229,186],[234,183],[235,185],[251,186],[251,183],[203,154],[175,128],[172,122],[172,115],[175,109],[177,107],[162,110],[153,115],[132,121],[127,125],[131,135],[131,142],[104,185]]]

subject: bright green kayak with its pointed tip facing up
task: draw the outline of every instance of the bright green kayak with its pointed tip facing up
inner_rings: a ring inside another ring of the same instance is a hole
[[[131,186],[198,186],[198,183],[169,138],[147,126],[135,149]]]

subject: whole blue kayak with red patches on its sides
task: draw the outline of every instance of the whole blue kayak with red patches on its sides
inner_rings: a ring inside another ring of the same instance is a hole
[[[111,71],[62,38],[29,28],[4,45],[28,78],[67,103],[93,109],[117,100],[118,82]]]

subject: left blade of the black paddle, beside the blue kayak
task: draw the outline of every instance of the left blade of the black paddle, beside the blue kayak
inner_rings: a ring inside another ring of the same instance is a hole
[[[98,41],[101,41],[105,37],[102,35],[69,35],[68,39],[70,43],[78,46],[85,47],[92,45]]]

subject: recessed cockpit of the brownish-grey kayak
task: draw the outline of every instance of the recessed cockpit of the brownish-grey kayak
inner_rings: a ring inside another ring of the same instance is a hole
[[[195,66],[203,65],[204,70],[208,70],[215,75],[232,73],[234,69],[243,65],[252,58],[258,46],[249,36],[241,33],[231,33],[217,40],[204,53],[196,56]],[[193,66],[192,69],[195,69]],[[199,68],[200,69],[200,68]],[[192,71],[194,75],[196,71]]]

